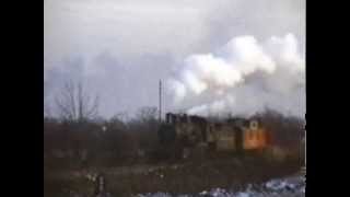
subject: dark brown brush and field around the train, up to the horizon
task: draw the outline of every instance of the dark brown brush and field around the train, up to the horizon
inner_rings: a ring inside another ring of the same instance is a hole
[[[262,190],[273,196],[271,179],[294,176],[304,163],[303,121],[276,113],[260,115],[273,135],[262,152],[192,150],[184,159],[183,144],[160,143],[159,121],[44,121],[44,194],[46,197],[95,197],[96,174],[110,196],[237,196]],[[103,129],[106,126],[108,129]],[[277,195],[302,187],[278,181]],[[269,184],[268,184],[269,185]],[[296,189],[296,190],[295,190]],[[218,195],[220,194],[220,195]],[[294,194],[294,193],[293,193]],[[252,196],[252,195],[250,195]]]

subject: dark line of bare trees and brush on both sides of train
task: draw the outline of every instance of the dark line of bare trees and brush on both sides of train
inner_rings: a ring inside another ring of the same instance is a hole
[[[164,149],[158,136],[156,107],[141,107],[131,119],[126,119],[125,114],[98,118],[98,96],[72,82],[62,88],[55,104],[58,116],[44,115],[47,165],[117,165],[156,159]],[[302,118],[271,109],[256,116],[272,132],[276,143],[288,148],[300,144],[304,135]]]

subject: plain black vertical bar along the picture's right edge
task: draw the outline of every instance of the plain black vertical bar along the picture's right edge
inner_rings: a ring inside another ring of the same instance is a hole
[[[306,1],[306,196],[346,196],[349,189],[349,77],[341,70],[349,61],[341,14],[349,11],[335,5]]]

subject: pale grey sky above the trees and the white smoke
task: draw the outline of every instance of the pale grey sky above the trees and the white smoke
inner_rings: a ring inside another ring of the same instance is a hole
[[[45,0],[45,100],[81,80],[100,95],[101,115],[132,114],[158,105],[158,81],[186,57],[240,35],[287,33],[304,53],[304,0]]]

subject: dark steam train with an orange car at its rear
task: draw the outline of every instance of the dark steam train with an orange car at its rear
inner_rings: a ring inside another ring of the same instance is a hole
[[[159,130],[161,143],[177,142],[186,149],[203,148],[214,151],[264,151],[270,144],[270,132],[257,117],[226,118],[210,120],[208,118],[173,114],[165,115]]]

